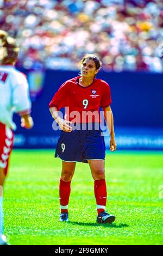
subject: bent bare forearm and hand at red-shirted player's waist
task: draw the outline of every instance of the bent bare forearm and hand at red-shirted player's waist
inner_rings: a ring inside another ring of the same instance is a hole
[[[51,107],[51,108],[49,108],[49,111],[51,112],[52,117],[58,123],[58,125],[62,131],[65,131],[65,132],[72,131],[72,127],[70,125],[68,125],[68,124],[72,124],[72,122],[59,117],[57,107]]]

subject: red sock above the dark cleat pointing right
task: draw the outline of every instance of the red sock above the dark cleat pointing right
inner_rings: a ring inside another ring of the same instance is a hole
[[[105,211],[106,205],[106,181],[103,180],[95,180],[95,197],[97,203],[97,214],[99,215],[102,211]]]

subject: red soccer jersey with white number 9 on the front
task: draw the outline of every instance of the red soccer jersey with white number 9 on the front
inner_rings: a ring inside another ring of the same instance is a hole
[[[65,119],[73,123],[92,123],[101,121],[99,107],[111,104],[109,84],[95,78],[90,86],[83,87],[79,78],[74,77],[61,85],[54,94],[49,107],[65,108]]]

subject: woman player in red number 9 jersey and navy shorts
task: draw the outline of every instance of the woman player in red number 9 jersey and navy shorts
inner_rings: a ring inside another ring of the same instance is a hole
[[[110,130],[110,150],[115,151],[110,87],[105,81],[95,78],[101,68],[98,57],[86,54],[81,63],[80,76],[62,84],[49,103],[52,117],[62,130],[55,151],[55,157],[62,160],[59,221],[68,221],[68,201],[76,162],[87,162],[95,180],[97,222],[111,223],[115,220],[115,216],[105,212],[105,143],[100,129],[99,115],[99,107],[102,107]],[[59,116],[62,107],[66,107],[64,119]]]

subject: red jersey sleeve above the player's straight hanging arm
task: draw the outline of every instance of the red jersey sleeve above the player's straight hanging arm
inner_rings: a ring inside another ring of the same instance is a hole
[[[100,106],[101,107],[108,107],[112,103],[111,93],[110,93],[110,86],[105,81],[103,81],[103,82],[104,82],[103,85],[102,85],[103,86],[103,94],[102,94]]]

